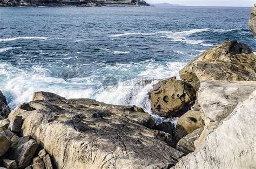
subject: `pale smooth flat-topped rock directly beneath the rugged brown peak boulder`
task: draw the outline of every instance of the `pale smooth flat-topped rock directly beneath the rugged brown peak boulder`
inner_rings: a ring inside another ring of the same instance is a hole
[[[256,90],[256,81],[203,82],[197,93],[201,111],[212,121],[224,119]]]

